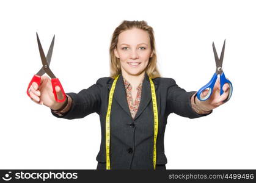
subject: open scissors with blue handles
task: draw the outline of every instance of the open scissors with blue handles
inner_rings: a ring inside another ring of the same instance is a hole
[[[214,57],[215,57],[215,62],[216,62],[216,72],[213,74],[213,77],[211,78],[211,81],[208,82],[208,84],[204,85],[202,88],[200,88],[200,90],[197,92],[197,98],[200,101],[206,101],[208,98],[210,98],[211,94],[213,93],[213,87],[214,87],[214,84],[215,84],[215,82],[218,78],[218,75],[220,76],[220,80],[221,80],[221,93],[220,93],[220,95],[222,95],[224,93],[222,87],[225,83],[229,84],[229,96],[227,97],[227,99],[225,99],[225,101],[228,101],[230,99],[231,95],[232,95],[232,92],[233,92],[232,83],[228,79],[225,78],[225,74],[222,70],[224,50],[225,50],[225,41],[224,41],[224,44],[222,46],[221,57],[219,59],[218,54],[216,52],[216,48],[215,48],[214,43],[213,43],[213,52],[214,52]],[[201,97],[200,95],[204,90],[209,90],[208,93],[207,93],[207,96]]]

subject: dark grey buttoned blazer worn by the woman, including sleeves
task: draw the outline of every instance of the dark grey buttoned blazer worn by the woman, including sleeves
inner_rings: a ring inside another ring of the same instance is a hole
[[[108,109],[109,91],[114,79],[101,77],[96,84],[79,91],[67,93],[73,99],[71,109],[64,116],[57,118],[84,118],[90,113],[97,112],[101,122],[101,145],[97,169],[106,169],[106,140],[105,123]],[[178,87],[174,79],[158,77],[152,79],[158,106],[158,137],[156,142],[156,169],[166,168],[164,154],[164,131],[167,117],[176,113],[182,117],[198,118],[199,115],[191,108],[190,98],[196,91],[186,92]],[[153,169],[153,106],[150,81],[145,74],[142,82],[141,102],[134,119],[131,117],[126,101],[125,85],[120,74],[115,86],[112,100],[110,129],[111,169]]]

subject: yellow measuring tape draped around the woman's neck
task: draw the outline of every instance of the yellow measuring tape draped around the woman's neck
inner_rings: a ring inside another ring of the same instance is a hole
[[[109,93],[109,102],[108,102],[108,112],[106,115],[106,170],[110,170],[110,113],[111,113],[111,106],[112,106],[112,99],[115,91],[115,84],[117,83],[117,79],[119,78],[120,74],[115,77],[115,80],[112,84],[110,93]],[[153,148],[153,167],[154,170],[156,169],[156,137],[158,136],[158,108],[156,103],[156,92],[155,92],[155,85],[153,84],[152,79],[149,77],[150,80],[150,87],[152,93],[152,102],[153,102],[153,113],[154,113],[154,148]]]

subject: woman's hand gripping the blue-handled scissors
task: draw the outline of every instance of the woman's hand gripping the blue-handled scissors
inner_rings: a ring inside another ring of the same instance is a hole
[[[217,82],[215,82],[214,84],[213,93],[211,93],[210,98],[208,98],[206,101],[200,101],[198,98],[196,98],[195,102],[197,106],[199,106],[202,110],[209,111],[224,104],[225,99],[227,99],[227,97],[229,96],[229,84],[225,83],[222,89],[224,93],[220,95],[221,84],[218,77]],[[201,97],[207,96],[208,92],[209,90],[204,90],[201,93]]]

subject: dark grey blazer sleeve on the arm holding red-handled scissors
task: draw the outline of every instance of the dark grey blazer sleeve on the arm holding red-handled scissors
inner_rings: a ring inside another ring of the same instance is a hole
[[[104,79],[100,78],[96,84],[79,91],[79,93],[67,93],[67,95],[73,99],[71,109],[61,117],[52,111],[51,113],[54,117],[65,118],[68,120],[84,118],[93,112],[99,113],[103,85]]]

